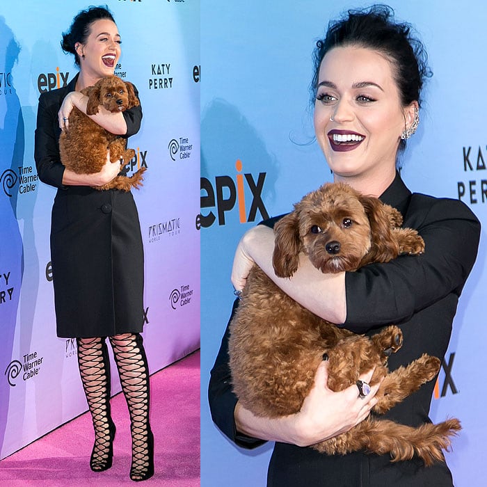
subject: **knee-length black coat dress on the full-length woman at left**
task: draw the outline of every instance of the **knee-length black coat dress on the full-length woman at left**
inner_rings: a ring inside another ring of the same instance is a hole
[[[35,164],[42,182],[58,188],[51,217],[51,262],[58,337],[106,337],[143,328],[143,244],[130,192],[63,186],[58,110],[74,90],[39,97]],[[137,93],[136,93],[137,94]],[[123,113],[129,137],[141,107]]]

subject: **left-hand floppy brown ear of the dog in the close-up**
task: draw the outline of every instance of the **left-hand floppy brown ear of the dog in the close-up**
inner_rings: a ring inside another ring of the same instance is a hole
[[[290,278],[298,269],[301,239],[299,238],[299,219],[296,210],[281,218],[274,226],[276,243],[272,264],[276,276]]]

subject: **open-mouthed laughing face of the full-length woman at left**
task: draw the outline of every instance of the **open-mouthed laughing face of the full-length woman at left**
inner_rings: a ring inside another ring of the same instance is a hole
[[[83,74],[95,79],[113,74],[120,58],[120,34],[109,19],[95,20],[85,44],[76,45]],[[84,55],[84,58],[83,58]]]

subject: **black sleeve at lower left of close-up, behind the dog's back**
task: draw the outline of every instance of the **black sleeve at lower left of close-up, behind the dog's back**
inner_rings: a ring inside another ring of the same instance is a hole
[[[232,308],[232,315],[239,305],[236,299]],[[255,448],[264,443],[264,440],[251,438],[239,433],[235,427],[234,409],[237,404],[237,396],[232,391],[232,375],[230,372],[228,356],[228,340],[230,337],[230,321],[228,322],[225,335],[221,341],[220,350],[213,368],[210,372],[208,400],[211,418],[218,428],[239,447]]]

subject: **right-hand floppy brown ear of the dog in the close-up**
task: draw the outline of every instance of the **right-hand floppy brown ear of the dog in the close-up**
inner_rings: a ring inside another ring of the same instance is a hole
[[[360,203],[369,218],[372,246],[360,265],[369,262],[388,262],[399,255],[399,245],[392,234],[399,217],[392,207],[384,205],[378,198],[372,196],[359,197]]]

